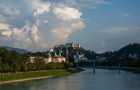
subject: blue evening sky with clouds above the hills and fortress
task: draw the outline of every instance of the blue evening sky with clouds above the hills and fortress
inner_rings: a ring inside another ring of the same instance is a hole
[[[35,52],[74,42],[103,53],[140,43],[140,0],[0,2],[0,46]]]

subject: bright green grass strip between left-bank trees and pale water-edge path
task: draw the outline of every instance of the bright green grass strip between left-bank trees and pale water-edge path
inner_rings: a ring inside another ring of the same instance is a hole
[[[11,81],[11,80],[43,77],[43,76],[63,76],[67,74],[69,74],[69,72],[63,69],[34,71],[34,72],[3,73],[3,74],[0,74],[0,81],[4,82],[4,81]]]

